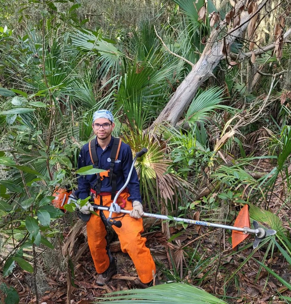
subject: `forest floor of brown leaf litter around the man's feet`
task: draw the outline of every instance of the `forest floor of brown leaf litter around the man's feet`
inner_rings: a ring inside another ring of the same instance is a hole
[[[151,249],[153,257],[157,262],[157,279],[159,284],[174,281],[175,276],[170,277],[168,275],[169,273],[173,274],[174,271],[166,270],[172,267],[169,266],[169,249],[163,233],[161,233],[161,231],[147,232],[145,236],[147,237],[147,246]],[[195,238],[198,238],[198,240],[192,242]],[[78,252],[78,249],[82,246],[86,249],[74,265],[74,275],[71,279],[68,276],[70,271],[66,268],[65,261],[63,261],[63,265],[60,265],[57,269],[56,264],[58,258],[55,253],[52,254],[53,250],[50,250],[50,253],[44,261],[42,261],[43,274],[41,275],[39,273],[37,276],[39,292],[42,293],[40,303],[67,303],[68,282],[70,281],[72,282],[69,291],[71,304],[90,303],[95,297],[102,297],[109,292],[138,288],[134,283],[137,274],[133,262],[128,255],[118,250],[118,241],[111,242],[111,248],[115,251],[113,252],[113,256],[117,262],[116,275],[113,276],[108,285],[100,287],[95,284],[96,271],[87,244],[81,241],[81,239],[85,241],[85,237],[79,234],[77,239],[74,244],[74,246],[77,246],[77,248],[74,248],[75,252]],[[253,238],[250,236],[246,243],[252,243],[252,241]],[[191,244],[183,248],[184,245],[190,242]],[[228,256],[228,254],[232,252],[231,245],[227,242],[227,235],[223,236],[221,230],[206,231],[206,228],[202,228],[198,236],[195,227],[188,227],[186,230],[183,230],[181,235],[173,242],[176,245],[171,249],[171,254],[176,257],[176,259],[179,254],[183,254],[186,258],[188,257],[187,260],[189,260],[189,254],[194,251],[198,242],[199,248],[196,252],[197,256],[203,255],[203,259],[206,260],[208,256],[213,255],[213,252],[220,252],[221,258],[220,260],[215,259],[213,263],[209,261],[203,271],[199,272],[200,269],[196,270],[196,275],[193,274],[193,269],[196,268],[197,264],[195,261],[187,265],[187,270],[185,270],[185,263],[183,263],[183,272],[181,273],[180,270],[177,271],[178,275],[182,275],[183,282],[188,282],[196,286],[199,285],[210,293],[214,293],[213,289],[215,288],[217,296],[226,293],[230,298],[225,300],[229,303],[280,303],[276,296],[277,290],[283,292],[284,288],[281,287],[282,285],[275,278],[268,276],[266,271],[262,270],[258,275],[258,264],[253,261],[246,263],[241,270],[237,272],[235,278],[228,281],[230,275],[240,266],[248,254],[251,253],[252,248],[246,249],[234,256]],[[257,251],[254,255],[259,261],[262,260],[263,256],[264,252],[262,250]],[[51,261],[49,260],[50,258]],[[51,269],[48,271],[45,270],[45,268],[47,268],[45,264],[49,263],[51,263]],[[72,263],[73,261],[69,262],[70,267],[73,267]],[[267,261],[267,264],[270,263],[271,261]],[[291,278],[290,271],[287,268],[288,265],[282,256],[275,254],[272,259],[272,269],[281,277],[285,278],[287,282],[289,282]],[[166,272],[168,272],[168,274],[166,274]],[[208,275],[205,278],[204,275],[207,272]],[[29,286],[32,285],[31,275],[16,268],[14,274],[10,276],[7,281],[17,289],[20,296],[20,303],[35,302],[36,299],[31,298],[29,295],[31,291]],[[286,291],[285,295],[290,296],[290,292]]]

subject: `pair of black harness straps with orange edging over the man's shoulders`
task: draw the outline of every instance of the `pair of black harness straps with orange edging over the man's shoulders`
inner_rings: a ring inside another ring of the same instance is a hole
[[[116,174],[113,173],[113,168],[115,161],[118,158],[119,150],[121,146],[121,139],[118,137],[114,137],[113,140],[113,145],[112,145],[112,150],[110,153],[110,168],[109,168],[109,185],[111,185],[111,199],[114,199],[114,196],[116,194]],[[98,156],[97,156],[97,151],[95,147],[95,140],[90,140],[89,142],[89,153],[91,157],[91,161],[93,163],[94,168],[99,168],[98,167]],[[96,195],[100,193],[101,189],[101,180],[100,180],[100,174],[97,173],[97,182],[94,185],[94,190],[96,191]]]

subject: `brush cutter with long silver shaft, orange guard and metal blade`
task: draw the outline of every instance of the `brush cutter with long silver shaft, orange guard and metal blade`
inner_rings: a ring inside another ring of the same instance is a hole
[[[116,221],[112,215],[113,213],[125,213],[129,214],[130,210],[124,210],[121,209],[121,207],[116,203],[118,196],[120,193],[126,188],[127,184],[130,181],[130,177],[134,168],[135,161],[137,160],[137,157],[142,156],[144,153],[147,152],[146,148],[143,148],[140,152],[137,152],[136,156],[133,159],[133,163],[130,168],[130,172],[128,174],[128,177],[126,179],[125,184],[123,187],[116,192],[116,195],[113,199],[113,202],[110,204],[109,207],[106,206],[100,206],[100,205],[93,205],[94,210],[105,210],[109,211],[109,216],[107,218],[107,224],[109,226],[116,226],[120,228],[122,226],[121,221]],[[54,195],[56,196],[56,195]],[[57,202],[57,203],[56,203]],[[57,207],[57,205],[61,205],[62,207],[64,204],[70,204],[73,203],[76,206],[79,206],[77,204],[77,199],[72,195],[72,192],[68,192],[66,189],[59,189],[57,192],[57,197],[56,199],[53,200],[54,206]],[[250,228],[250,217],[248,213],[248,205],[244,205],[244,207],[241,209],[239,212],[234,225],[235,226],[228,226],[228,225],[223,225],[223,224],[217,224],[217,223],[210,223],[210,222],[204,222],[204,221],[199,221],[199,220],[194,220],[194,219],[184,219],[180,217],[172,217],[172,216],[166,216],[166,215],[161,215],[161,214],[154,214],[154,213],[147,213],[144,212],[143,216],[147,217],[154,217],[156,219],[163,219],[163,220],[172,220],[175,222],[183,222],[183,223],[189,223],[189,224],[194,224],[194,225],[199,225],[199,226],[205,226],[205,227],[215,227],[215,228],[222,228],[222,229],[230,229],[232,230],[232,248],[235,249],[243,240],[245,240],[249,234],[255,234],[255,241],[253,244],[253,248],[255,249],[258,247],[258,244],[260,241],[270,235],[275,235],[277,233],[276,230],[271,230],[271,229],[266,229],[258,224],[257,221],[253,220],[253,226],[255,229]]]

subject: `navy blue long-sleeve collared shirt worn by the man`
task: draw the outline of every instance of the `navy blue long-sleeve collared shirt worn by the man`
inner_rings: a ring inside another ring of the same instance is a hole
[[[95,148],[98,156],[98,167],[99,169],[104,169],[104,171],[110,168],[110,154],[113,146],[113,140],[114,138],[112,136],[109,145],[105,148],[105,150],[102,150],[97,142],[97,138],[95,138]],[[118,154],[118,159],[115,161],[113,168],[113,172],[116,174],[116,191],[120,190],[124,185],[128,177],[132,162],[133,159],[130,146],[122,142]],[[78,169],[90,165],[92,165],[92,161],[89,153],[89,143],[86,143],[81,148],[81,152],[79,154]],[[96,181],[96,174],[78,175],[78,190],[75,191],[75,195],[78,197],[78,199],[85,199],[88,197],[90,195],[90,189],[94,187]],[[133,172],[127,188],[130,194],[128,199],[141,202],[140,184],[135,168],[133,168]],[[100,192],[111,192],[111,189],[112,187],[109,185],[109,177],[104,177],[101,181]]]

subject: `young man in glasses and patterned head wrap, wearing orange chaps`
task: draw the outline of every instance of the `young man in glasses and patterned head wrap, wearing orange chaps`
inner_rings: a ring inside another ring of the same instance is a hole
[[[95,168],[104,169],[105,173],[108,169],[112,170],[112,166],[110,167],[110,154],[113,148],[114,138],[111,133],[114,126],[111,112],[107,110],[94,112],[92,128],[96,138],[93,149],[96,150],[98,157],[98,166],[95,166]],[[89,147],[88,143],[82,147],[78,159],[78,168],[92,165],[91,147]],[[118,159],[114,162],[112,181],[110,182],[109,178],[112,172],[109,172],[109,176],[101,173],[99,177],[96,174],[79,176],[78,190],[75,192],[75,195],[79,199],[85,199],[91,195],[94,197],[95,204],[110,206],[112,202],[112,187],[113,185],[115,186],[115,192],[122,188],[128,177],[132,162],[133,158],[130,146],[122,142]],[[117,203],[121,208],[131,210],[131,212],[130,214],[122,214],[124,216],[113,213],[113,217],[119,216],[118,220],[121,221],[122,226],[121,228],[112,227],[119,237],[121,250],[124,253],[128,253],[133,260],[140,281],[147,284],[153,280],[156,268],[150,250],[145,246],[146,238],[140,235],[144,231],[141,218],[144,212],[135,169],[127,188],[120,193]],[[90,211],[93,211],[93,207],[89,202],[80,209],[80,212],[84,214],[90,214]],[[109,282],[114,274],[116,264],[110,254],[106,237],[106,218],[109,212],[98,210],[97,214],[99,216],[91,214],[87,222],[87,237],[90,252],[98,273],[96,283],[104,285]]]

